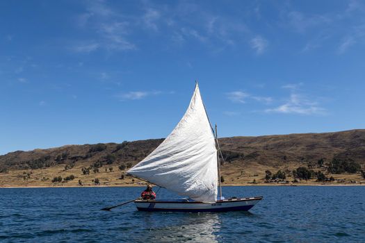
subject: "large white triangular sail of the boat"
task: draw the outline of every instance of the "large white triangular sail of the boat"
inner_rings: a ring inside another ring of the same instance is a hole
[[[128,173],[181,196],[217,200],[217,151],[198,85],[184,117],[170,135]]]

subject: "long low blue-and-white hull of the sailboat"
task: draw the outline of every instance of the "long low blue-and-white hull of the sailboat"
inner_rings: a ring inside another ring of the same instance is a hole
[[[261,199],[262,196],[245,199],[219,200],[216,203],[202,203],[188,200],[136,200],[134,203],[138,210],[147,212],[228,212],[248,211]]]

